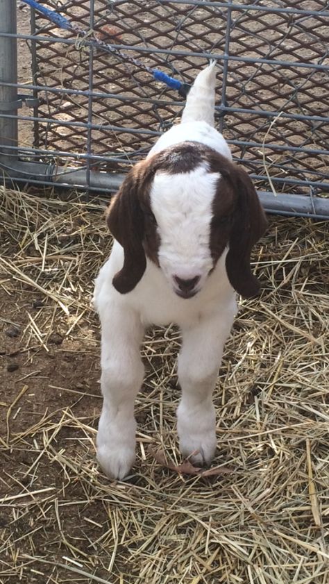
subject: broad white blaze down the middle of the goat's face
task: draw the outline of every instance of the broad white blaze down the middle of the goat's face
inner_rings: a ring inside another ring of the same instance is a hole
[[[205,165],[189,173],[155,174],[151,208],[161,238],[158,259],[169,285],[175,287],[174,276],[199,276],[201,289],[212,269],[210,221],[219,178],[218,173],[210,174]]]

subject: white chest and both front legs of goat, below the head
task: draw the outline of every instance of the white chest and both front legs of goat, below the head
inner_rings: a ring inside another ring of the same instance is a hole
[[[178,436],[183,456],[210,462],[216,448],[212,392],[223,346],[237,310],[228,282],[225,253],[199,294],[182,299],[163,272],[151,261],[135,289],[119,294],[112,277],[123,265],[115,242],[110,259],[96,280],[94,306],[101,319],[101,389],[104,402],[97,435],[98,460],[111,478],[123,478],[135,460],[133,403],[140,390],[143,366],[140,343],[150,324],[175,322],[183,335],[178,358],[182,400],[178,407]]]

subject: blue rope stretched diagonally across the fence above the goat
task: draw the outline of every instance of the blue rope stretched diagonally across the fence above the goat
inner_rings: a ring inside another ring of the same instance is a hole
[[[65,31],[71,31],[71,32],[76,33],[78,35],[82,35],[83,37],[87,37],[87,32],[84,31],[83,28],[80,28],[79,26],[71,24],[71,22],[67,18],[58,14],[58,12],[55,12],[54,10],[50,10],[50,8],[46,8],[45,6],[41,6],[41,4],[39,4],[36,0],[22,0],[22,1],[25,2],[26,4],[28,4],[29,6],[31,6],[31,8],[35,8],[35,10],[37,10],[38,12],[41,12],[41,14],[43,14],[47,19],[51,20],[51,22],[54,22],[55,24],[57,24],[57,26],[59,26],[60,28],[64,28]],[[98,40],[96,38],[91,38],[91,39],[88,38],[88,42],[90,42],[90,44],[92,44],[93,46],[101,47],[101,49],[103,49],[104,51],[107,51],[108,53],[114,53],[115,55],[119,56],[121,59],[128,60],[129,62],[132,62],[133,65],[136,65],[137,67],[141,67],[142,69],[144,69],[148,73],[151,73],[153,75],[153,77],[155,78],[155,81],[161,81],[162,83],[165,83],[171,89],[177,90],[178,93],[182,97],[187,96],[187,93],[189,92],[189,89],[190,89],[190,85],[188,83],[182,83],[181,81],[178,81],[177,79],[174,79],[173,77],[170,77],[169,75],[160,71],[159,69],[152,69],[151,67],[144,65],[140,60],[137,60],[133,57],[130,57],[130,56],[126,55],[126,53],[122,53],[122,51],[119,51],[119,49],[115,49],[115,47],[112,47],[111,44],[103,42],[102,40]]]

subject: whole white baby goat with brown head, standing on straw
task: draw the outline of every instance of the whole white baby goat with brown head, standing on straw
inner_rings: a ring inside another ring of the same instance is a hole
[[[115,242],[96,279],[94,306],[104,398],[97,457],[111,478],[123,478],[135,460],[140,344],[151,324],[174,322],[182,331],[180,452],[196,464],[212,460],[212,392],[237,310],[235,291],[259,291],[250,256],[267,221],[251,179],[213,127],[214,86],[212,63],[196,77],[180,124],[130,170],[108,209]]]

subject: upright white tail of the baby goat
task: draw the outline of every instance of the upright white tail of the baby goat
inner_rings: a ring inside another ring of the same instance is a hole
[[[216,61],[203,69],[189,90],[181,123],[207,122],[214,126],[214,100],[216,85]]]

